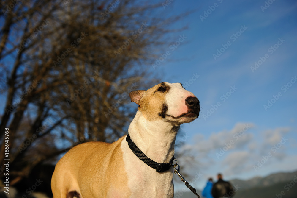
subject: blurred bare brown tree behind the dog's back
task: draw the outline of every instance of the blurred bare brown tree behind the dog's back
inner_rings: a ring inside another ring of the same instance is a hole
[[[0,161],[9,128],[11,185],[76,144],[124,135],[129,91],[155,84],[148,66],[181,17],[134,0],[8,0],[1,10]]]

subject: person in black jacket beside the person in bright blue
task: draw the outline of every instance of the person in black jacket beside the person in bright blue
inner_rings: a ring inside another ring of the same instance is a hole
[[[212,186],[211,194],[214,198],[233,197],[235,192],[230,182],[224,181],[222,174],[218,174],[218,181]]]

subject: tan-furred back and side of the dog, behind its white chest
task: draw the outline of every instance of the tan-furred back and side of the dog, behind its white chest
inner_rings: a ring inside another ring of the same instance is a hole
[[[125,188],[127,174],[122,171],[120,143],[123,138],[112,144],[88,142],[70,149],[55,167],[51,180],[53,197],[66,198],[69,191],[77,189],[84,198],[106,197],[108,193],[111,197],[129,197],[129,189]],[[119,183],[121,185],[116,185]],[[119,188],[113,189],[113,186]]]

